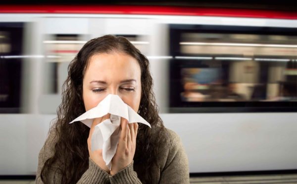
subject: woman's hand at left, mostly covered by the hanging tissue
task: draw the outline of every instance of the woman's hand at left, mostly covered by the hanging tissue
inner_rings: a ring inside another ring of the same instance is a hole
[[[109,173],[109,169],[106,166],[103,157],[102,157],[102,149],[99,150],[95,150],[95,151],[91,151],[91,139],[92,139],[92,135],[93,132],[95,130],[95,126],[101,122],[103,122],[104,120],[109,119],[110,114],[107,114],[106,116],[99,118],[99,119],[95,119],[92,123],[91,129],[90,129],[90,133],[89,133],[89,137],[88,137],[88,149],[89,149],[89,155],[90,158],[104,171],[106,171],[107,173]]]

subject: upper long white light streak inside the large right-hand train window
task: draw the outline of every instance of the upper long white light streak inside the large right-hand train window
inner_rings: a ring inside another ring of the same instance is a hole
[[[297,45],[285,45],[285,44],[243,44],[243,43],[206,43],[206,42],[180,42],[180,45],[205,45],[205,46],[242,46],[242,47],[283,47],[283,48],[297,48]]]

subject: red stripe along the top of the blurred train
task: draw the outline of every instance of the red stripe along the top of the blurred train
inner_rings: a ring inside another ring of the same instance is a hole
[[[297,19],[297,12],[293,11],[137,5],[1,5],[0,13],[144,14]]]

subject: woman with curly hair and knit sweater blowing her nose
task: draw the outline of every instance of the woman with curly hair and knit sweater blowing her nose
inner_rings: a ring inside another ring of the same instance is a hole
[[[101,150],[91,151],[91,129],[72,120],[116,94],[150,123],[121,120],[111,170]],[[68,67],[57,120],[39,154],[36,183],[189,183],[187,156],[176,133],[164,127],[152,92],[148,59],[124,37],[87,42]]]

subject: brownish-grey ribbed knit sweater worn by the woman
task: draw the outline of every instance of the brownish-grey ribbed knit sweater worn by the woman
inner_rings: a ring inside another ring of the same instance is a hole
[[[155,176],[151,179],[151,184],[189,184],[188,158],[181,140],[174,131],[169,129],[166,129],[166,131],[166,140],[163,141],[162,145],[159,145],[156,158],[157,164],[151,168]],[[157,134],[152,134],[152,138],[157,138]],[[46,143],[39,153],[36,184],[43,184],[40,173],[45,161],[53,155],[54,144],[55,132],[49,132]],[[81,176],[78,184],[142,184],[133,165],[134,162],[111,176],[89,158],[89,168]],[[50,170],[47,177],[52,179],[50,180],[52,183],[54,181],[53,178],[55,178],[56,184],[60,183],[61,175],[58,172]]]

